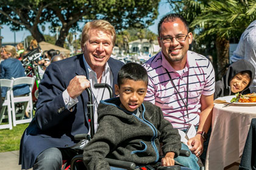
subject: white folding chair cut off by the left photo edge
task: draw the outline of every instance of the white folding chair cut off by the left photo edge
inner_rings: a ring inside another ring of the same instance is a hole
[[[12,107],[10,101],[10,91],[12,90],[13,80],[0,79],[0,87],[7,87],[5,99],[2,103],[2,109],[0,111],[0,129],[12,129]],[[8,109],[8,114],[5,115],[5,110]],[[7,119],[8,124],[2,124],[2,120]]]

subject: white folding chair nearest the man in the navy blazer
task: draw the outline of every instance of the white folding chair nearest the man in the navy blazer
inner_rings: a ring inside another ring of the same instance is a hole
[[[28,84],[29,90],[30,90],[29,94],[27,94],[26,96],[18,96],[18,97],[15,97],[13,95],[13,89],[10,92],[11,103],[12,103],[13,126],[16,126],[16,124],[29,123],[32,120],[32,117],[33,117],[32,89],[35,83],[35,77],[20,77],[20,78],[12,78],[12,79],[13,79],[13,86],[16,86],[18,84]],[[22,110],[21,114],[16,114],[15,103],[25,103],[24,109]],[[27,119],[24,119],[27,104],[29,104],[30,117]]]

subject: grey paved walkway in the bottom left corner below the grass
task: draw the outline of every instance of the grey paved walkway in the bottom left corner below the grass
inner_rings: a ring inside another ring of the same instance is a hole
[[[0,152],[0,167],[5,170],[21,170],[19,151]]]

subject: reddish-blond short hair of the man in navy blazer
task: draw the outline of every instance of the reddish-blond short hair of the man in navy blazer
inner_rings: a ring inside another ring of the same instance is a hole
[[[82,38],[81,38],[81,47],[84,46],[85,42],[88,40],[88,32],[91,29],[98,29],[103,32],[110,33],[112,35],[112,43],[115,46],[116,41],[116,31],[113,25],[111,25],[108,21],[97,19],[91,22],[87,22],[82,30]]]

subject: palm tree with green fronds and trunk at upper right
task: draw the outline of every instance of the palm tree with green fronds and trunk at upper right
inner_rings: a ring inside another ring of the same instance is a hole
[[[240,38],[246,27],[255,19],[256,1],[213,0],[191,23],[200,27],[198,39],[214,35],[218,69],[229,63],[229,39]],[[254,9],[254,10],[253,10]]]

